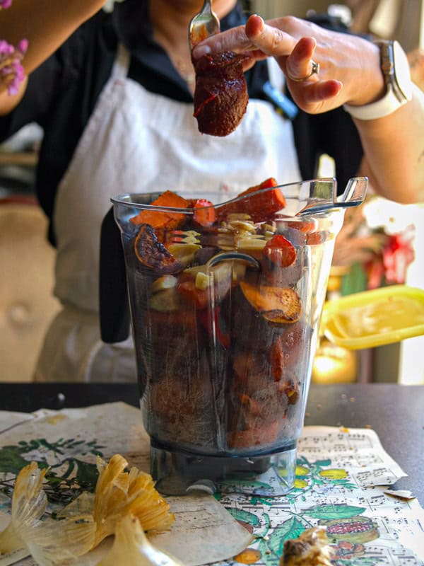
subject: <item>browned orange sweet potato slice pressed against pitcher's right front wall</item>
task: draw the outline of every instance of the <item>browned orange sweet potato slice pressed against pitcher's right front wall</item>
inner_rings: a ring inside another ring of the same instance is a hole
[[[272,323],[295,323],[302,314],[302,301],[294,289],[282,287],[256,287],[246,281],[240,289],[255,311]]]

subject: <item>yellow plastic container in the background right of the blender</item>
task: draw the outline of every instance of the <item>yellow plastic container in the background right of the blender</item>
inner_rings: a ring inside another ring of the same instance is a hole
[[[334,344],[359,350],[424,334],[424,290],[391,285],[328,301],[322,333]]]

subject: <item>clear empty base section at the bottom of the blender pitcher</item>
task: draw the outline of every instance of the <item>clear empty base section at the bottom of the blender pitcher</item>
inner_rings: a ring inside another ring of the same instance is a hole
[[[285,495],[295,482],[296,448],[259,456],[206,456],[170,451],[151,442],[151,475],[163,495],[203,491],[268,497]]]

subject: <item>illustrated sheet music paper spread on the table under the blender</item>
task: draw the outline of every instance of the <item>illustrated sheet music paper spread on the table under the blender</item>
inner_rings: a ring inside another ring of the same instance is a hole
[[[138,409],[110,403],[29,416],[0,412],[0,487],[6,491],[31,460],[48,463],[57,475],[71,469],[71,476],[88,478],[98,453],[105,460],[122,454],[148,472],[148,437]],[[386,492],[404,475],[373,430],[308,426],[298,444],[295,487],[288,495],[276,495],[278,469],[271,469],[249,485],[224,482],[216,497],[203,496],[203,502],[170,497],[177,522],[174,532],[163,537],[163,547],[172,548],[187,566],[210,563],[213,548],[221,552],[218,562],[212,560],[219,566],[278,566],[287,538],[325,524],[335,566],[424,566],[423,509],[411,494]],[[237,492],[240,487],[244,493]],[[259,495],[263,490],[268,495]],[[10,495],[10,489],[0,495],[0,529],[10,520]],[[214,505],[219,516],[211,512]],[[208,542],[208,552],[201,541]],[[160,548],[160,536],[153,543]],[[106,541],[78,565],[95,566],[109,545]],[[0,556],[0,566],[11,564],[35,562],[18,554]]]

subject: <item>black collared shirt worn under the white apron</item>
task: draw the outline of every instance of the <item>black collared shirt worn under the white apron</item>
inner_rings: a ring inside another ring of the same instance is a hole
[[[57,187],[110,76],[119,42],[131,52],[131,79],[153,93],[193,103],[186,83],[153,40],[147,4],[126,0],[116,4],[113,13],[100,11],[90,18],[30,74],[23,100],[10,115],[0,118],[1,140],[30,122],[37,122],[44,130],[35,188],[49,219]],[[245,14],[237,6],[223,18],[221,29],[244,22]],[[267,79],[266,62],[247,71],[249,98],[266,98],[262,87]],[[351,117],[341,108],[321,115],[300,111],[293,129],[302,177],[313,178],[319,156],[329,154],[336,161],[338,187],[343,190],[348,178],[358,171],[363,155]],[[54,241],[51,232],[49,238]]]

